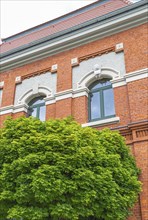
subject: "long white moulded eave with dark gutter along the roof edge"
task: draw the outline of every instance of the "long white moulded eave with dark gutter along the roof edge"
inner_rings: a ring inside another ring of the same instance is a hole
[[[29,45],[14,54],[5,54],[6,57],[1,59],[1,72],[143,24],[147,22],[146,6],[146,1],[129,5],[117,10],[112,16],[109,14],[93,19],[52,39],[41,39],[32,47]]]

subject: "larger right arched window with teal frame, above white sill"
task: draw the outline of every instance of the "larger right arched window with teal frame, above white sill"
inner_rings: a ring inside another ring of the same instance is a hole
[[[89,121],[114,117],[114,94],[110,81],[99,80],[91,84],[89,90]]]

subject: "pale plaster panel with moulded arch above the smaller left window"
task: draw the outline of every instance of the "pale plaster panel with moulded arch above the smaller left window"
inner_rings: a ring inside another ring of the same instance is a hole
[[[56,93],[56,84],[57,74],[50,72],[25,79],[16,85],[14,105],[27,103],[40,95],[50,97]]]

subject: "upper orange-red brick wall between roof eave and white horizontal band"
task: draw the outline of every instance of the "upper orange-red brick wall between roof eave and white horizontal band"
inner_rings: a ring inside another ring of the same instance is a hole
[[[95,42],[59,53],[57,55],[45,58],[31,64],[12,69],[1,74],[1,81],[5,81],[2,106],[13,103],[15,91],[15,77],[23,76],[29,73],[39,71],[58,64],[58,82],[57,91],[63,91],[71,88],[71,59],[74,57],[85,56],[103,49],[115,46],[118,43],[124,43],[125,67],[126,72],[131,72],[147,67],[147,25],[112,35]],[[135,41],[135,39],[138,39]],[[9,98],[8,98],[9,97]]]

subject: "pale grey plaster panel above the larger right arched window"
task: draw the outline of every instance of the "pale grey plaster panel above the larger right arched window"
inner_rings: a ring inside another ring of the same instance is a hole
[[[72,68],[72,86],[73,89],[78,88],[78,83],[86,77],[86,75],[94,73],[95,66],[98,65],[102,75],[105,74],[103,71],[110,70],[118,74],[118,77],[125,76],[125,61],[124,53],[110,52],[108,54],[103,54],[101,56],[96,56],[88,60],[82,61],[79,66]],[[116,75],[114,74],[111,78],[113,79]],[[95,80],[95,79],[94,79]],[[90,82],[91,83],[91,82]]]

